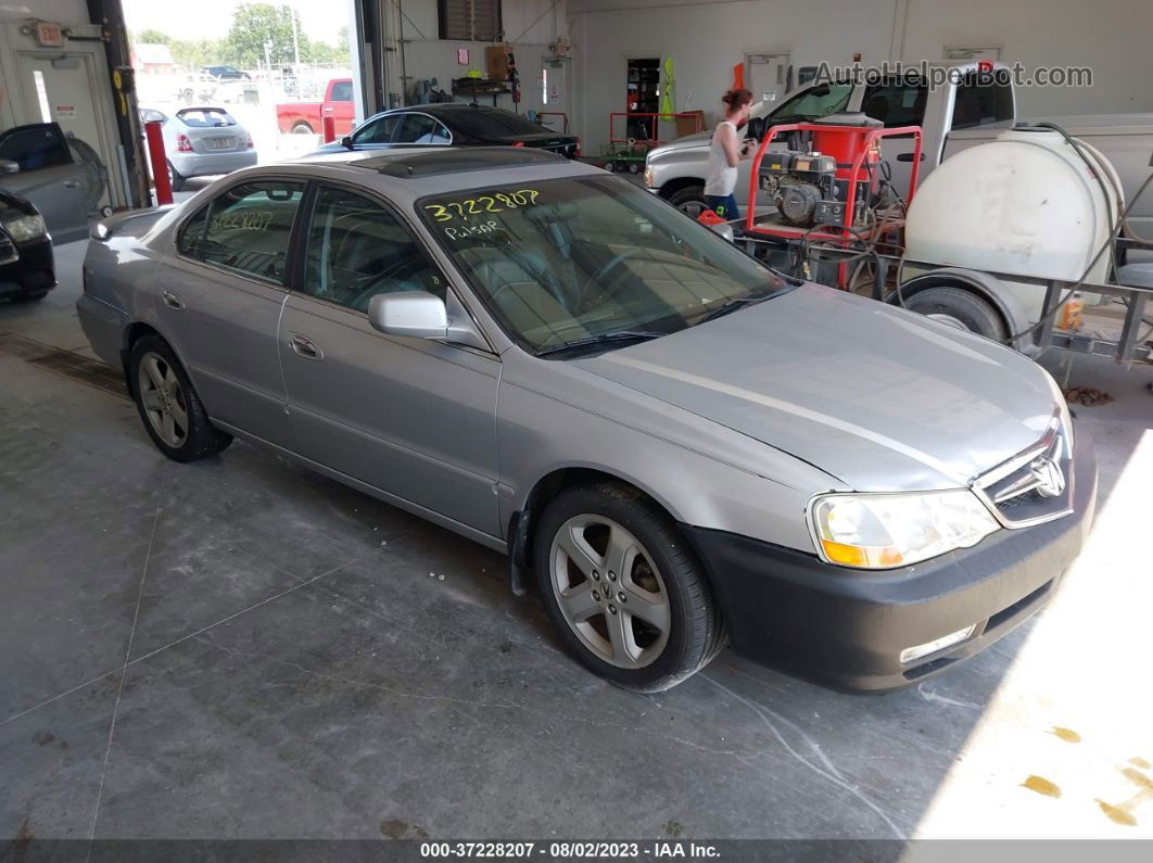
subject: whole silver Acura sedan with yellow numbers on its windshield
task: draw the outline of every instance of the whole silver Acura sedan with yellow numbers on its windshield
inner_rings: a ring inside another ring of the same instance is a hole
[[[634,690],[726,643],[925,680],[1043,606],[1093,515],[1092,441],[1025,357],[542,151],[240,171],[99,224],[84,274],[160,452],[242,437],[506,551]]]

